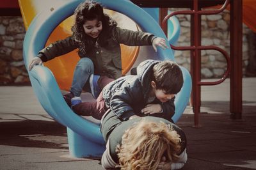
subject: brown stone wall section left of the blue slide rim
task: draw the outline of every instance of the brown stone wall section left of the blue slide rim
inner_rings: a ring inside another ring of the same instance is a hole
[[[30,83],[22,56],[25,33],[21,17],[0,17],[0,85]]]

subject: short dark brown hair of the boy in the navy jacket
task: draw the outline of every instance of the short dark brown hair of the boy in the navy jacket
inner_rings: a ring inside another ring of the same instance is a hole
[[[157,89],[177,94],[183,86],[182,71],[173,61],[161,61],[153,67],[152,81],[156,82]]]

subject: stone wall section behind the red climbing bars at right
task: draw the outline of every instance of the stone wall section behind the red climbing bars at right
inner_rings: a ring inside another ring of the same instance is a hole
[[[184,9],[171,9],[184,10]],[[186,9],[185,9],[186,10]],[[177,15],[180,21],[181,33],[175,46],[190,45],[190,15]],[[216,45],[230,54],[230,15],[224,11],[218,15],[202,15],[202,45]],[[246,75],[246,66],[249,61],[248,36],[252,31],[243,24],[243,75]],[[223,54],[217,50],[202,50],[202,79],[220,78],[227,68]],[[251,56],[255,58],[256,56]],[[175,51],[177,63],[190,70],[190,51]]]

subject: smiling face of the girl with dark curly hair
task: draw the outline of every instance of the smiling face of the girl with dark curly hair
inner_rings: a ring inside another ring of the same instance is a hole
[[[84,33],[92,38],[97,38],[102,31],[102,22],[94,19],[94,20],[86,20],[83,24]]]

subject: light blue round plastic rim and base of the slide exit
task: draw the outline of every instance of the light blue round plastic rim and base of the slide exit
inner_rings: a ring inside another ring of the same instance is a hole
[[[33,59],[38,51],[45,47],[48,37],[53,29],[63,20],[72,15],[80,1],[62,1],[50,10],[45,10],[33,19],[28,27],[24,39],[24,62],[28,69],[29,61]],[[153,33],[156,36],[165,37],[157,22],[143,11],[140,7],[126,0],[99,1],[104,6],[116,12],[124,13],[134,20],[143,31]],[[174,60],[172,50],[157,49],[157,59]],[[64,68],[62,68],[64,69]],[[68,69],[68,68],[65,68]],[[172,117],[173,121],[179,120],[182,112],[188,104],[191,93],[191,77],[185,68],[181,67],[184,75],[184,86],[175,98],[176,111]],[[28,71],[29,72],[29,71]],[[42,107],[45,111],[67,127],[68,145],[70,154],[74,157],[101,157],[105,150],[105,143],[100,134],[99,125],[77,116],[65,103],[54,74],[46,66],[35,66],[29,72],[29,78]]]

